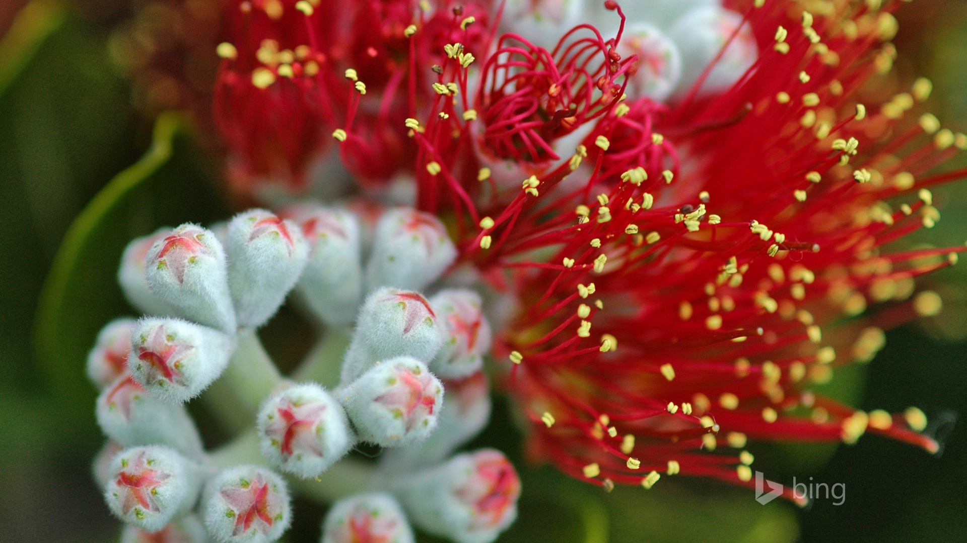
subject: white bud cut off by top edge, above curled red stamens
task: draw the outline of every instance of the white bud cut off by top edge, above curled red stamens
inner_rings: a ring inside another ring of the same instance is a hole
[[[583,4],[583,0],[507,0],[500,19],[501,31],[553,49],[566,32],[582,22]]]

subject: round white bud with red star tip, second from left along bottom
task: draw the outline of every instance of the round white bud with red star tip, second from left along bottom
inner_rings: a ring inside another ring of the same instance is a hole
[[[258,466],[219,472],[205,488],[205,527],[223,543],[268,543],[289,528],[289,491],[276,473]]]

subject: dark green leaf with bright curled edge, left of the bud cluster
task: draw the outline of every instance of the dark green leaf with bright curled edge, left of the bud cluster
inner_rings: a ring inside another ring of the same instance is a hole
[[[131,313],[116,284],[125,245],[162,221],[221,214],[217,199],[206,193],[211,184],[201,163],[179,137],[186,127],[179,115],[162,114],[151,148],[77,215],[54,259],[38,307],[34,347],[48,385],[67,405],[91,405],[87,352],[107,321]]]

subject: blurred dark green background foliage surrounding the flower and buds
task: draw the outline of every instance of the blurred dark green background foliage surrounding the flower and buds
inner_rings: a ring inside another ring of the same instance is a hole
[[[89,474],[103,438],[83,360],[103,323],[130,313],[114,284],[116,263],[134,236],[224,217],[233,205],[184,116],[154,125],[132,107],[139,97],[109,50],[131,2],[25,4],[0,2],[0,540],[107,542],[119,530]],[[967,2],[920,0],[898,18],[894,77],[932,78],[932,111],[967,129]],[[935,200],[945,220],[917,243],[963,243],[967,185],[939,189]],[[498,401],[477,443],[506,450],[525,488],[520,521],[501,541],[962,541],[967,431],[952,420],[967,413],[967,269],[927,281],[944,312],[891,331],[868,368],[840,372],[835,393],[865,409],[923,408],[947,437],[942,455],[875,437],[838,447],[750,444],[756,469],[773,480],[846,485],[843,504],[817,500],[806,511],[677,477],[650,492],[605,494],[527,465],[510,408]],[[283,311],[265,339],[284,365],[307,348],[306,332]],[[297,509],[289,539],[317,540],[321,507],[299,501]]]

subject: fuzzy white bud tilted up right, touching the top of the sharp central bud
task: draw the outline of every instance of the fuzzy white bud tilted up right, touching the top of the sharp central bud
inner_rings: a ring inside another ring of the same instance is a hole
[[[444,329],[420,294],[380,289],[366,299],[342,363],[341,383],[350,383],[378,360],[414,357],[429,361],[443,344]]]

